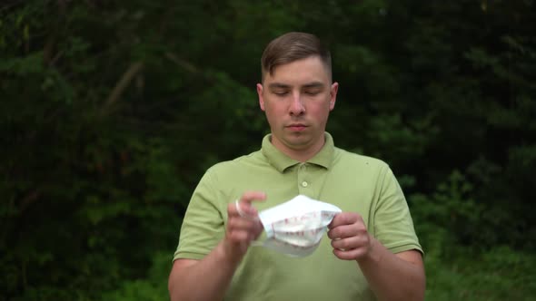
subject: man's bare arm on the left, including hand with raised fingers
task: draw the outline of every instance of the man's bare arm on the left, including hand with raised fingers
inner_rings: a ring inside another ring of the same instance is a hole
[[[245,192],[237,205],[227,207],[225,237],[201,260],[177,259],[169,276],[168,289],[172,301],[222,300],[236,267],[249,244],[263,231],[253,200],[263,200],[263,192]]]

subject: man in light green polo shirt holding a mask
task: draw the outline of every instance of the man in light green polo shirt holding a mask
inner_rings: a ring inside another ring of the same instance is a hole
[[[325,132],[338,83],[312,34],[273,40],[262,57],[262,149],[207,170],[184,216],[172,300],[422,300],[422,248],[402,190],[381,160]],[[260,210],[296,195],[342,209],[309,257],[251,246]],[[235,200],[237,200],[235,202]]]

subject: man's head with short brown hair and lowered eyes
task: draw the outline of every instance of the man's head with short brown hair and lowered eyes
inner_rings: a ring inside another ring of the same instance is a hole
[[[295,160],[322,149],[338,83],[332,83],[330,53],[313,34],[290,33],[263,53],[259,105],[272,131],[272,144]]]

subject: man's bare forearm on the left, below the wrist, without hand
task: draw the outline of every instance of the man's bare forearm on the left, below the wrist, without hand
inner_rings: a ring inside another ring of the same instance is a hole
[[[220,243],[202,260],[174,268],[169,278],[171,300],[222,300],[239,263],[226,256]]]

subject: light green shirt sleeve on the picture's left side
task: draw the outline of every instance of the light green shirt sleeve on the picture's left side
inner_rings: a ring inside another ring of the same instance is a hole
[[[184,214],[174,260],[179,258],[202,259],[223,238],[226,205],[218,203],[217,200],[221,199],[221,196],[219,196],[218,189],[214,184],[212,172],[207,170],[195,188]]]

